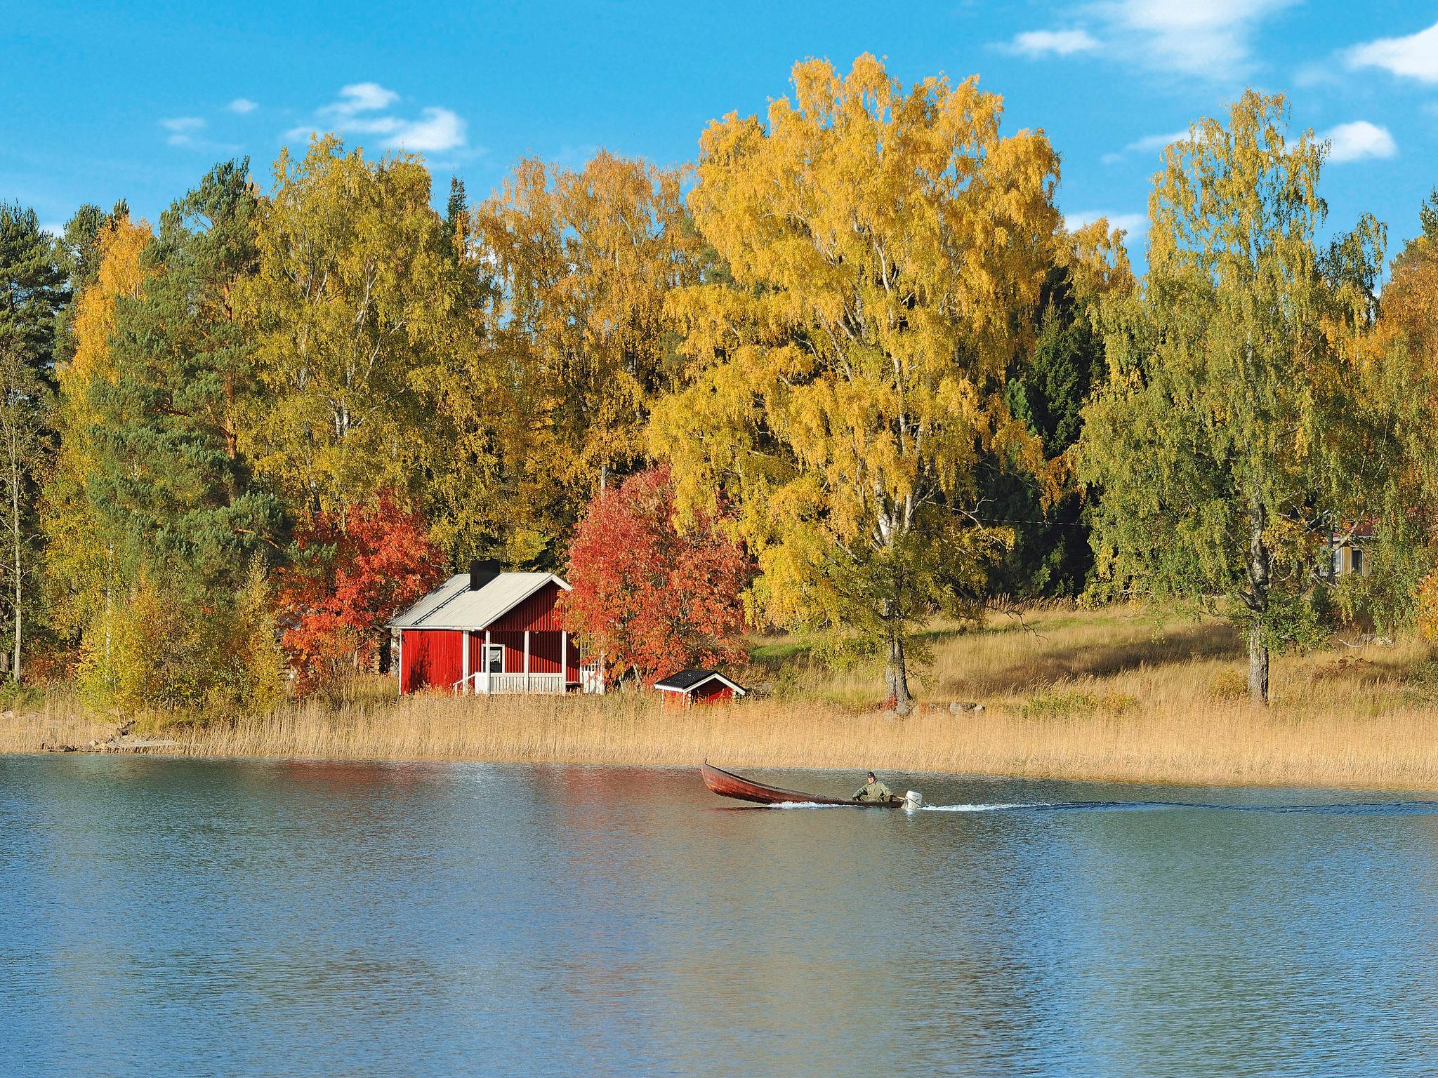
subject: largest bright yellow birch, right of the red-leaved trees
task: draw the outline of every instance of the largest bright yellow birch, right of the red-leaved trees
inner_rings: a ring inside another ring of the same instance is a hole
[[[731,499],[755,599],[787,625],[871,647],[909,704],[915,624],[972,612],[1007,542],[972,513],[988,453],[1041,464],[1008,410],[1058,229],[1058,160],[999,135],[976,79],[905,89],[873,56],[794,68],[768,122],[700,141],[689,198],[732,282],[679,289],[692,361],[654,410],[680,509]]]

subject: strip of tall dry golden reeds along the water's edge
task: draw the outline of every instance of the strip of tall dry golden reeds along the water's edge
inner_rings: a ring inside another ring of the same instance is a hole
[[[92,726],[86,726],[92,730]],[[0,749],[35,750],[62,719],[7,720]],[[418,697],[393,707],[318,706],[174,733],[197,756],[838,768],[1195,785],[1438,789],[1438,711],[1352,719],[1258,713],[998,711],[907,717],[745,701],[660,709],[637,697]],[[75,743],[78,737],[72,737]]]

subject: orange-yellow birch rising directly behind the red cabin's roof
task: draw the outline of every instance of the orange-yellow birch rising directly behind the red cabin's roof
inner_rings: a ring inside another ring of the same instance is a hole
[[[492,273],[483,369],[495,516],[506,559],[554,565],[584,505],[644,460],[670,385],[674,287],[697,277],[680,175],[600,152],[582,170],[522,161],[473,214]]]

